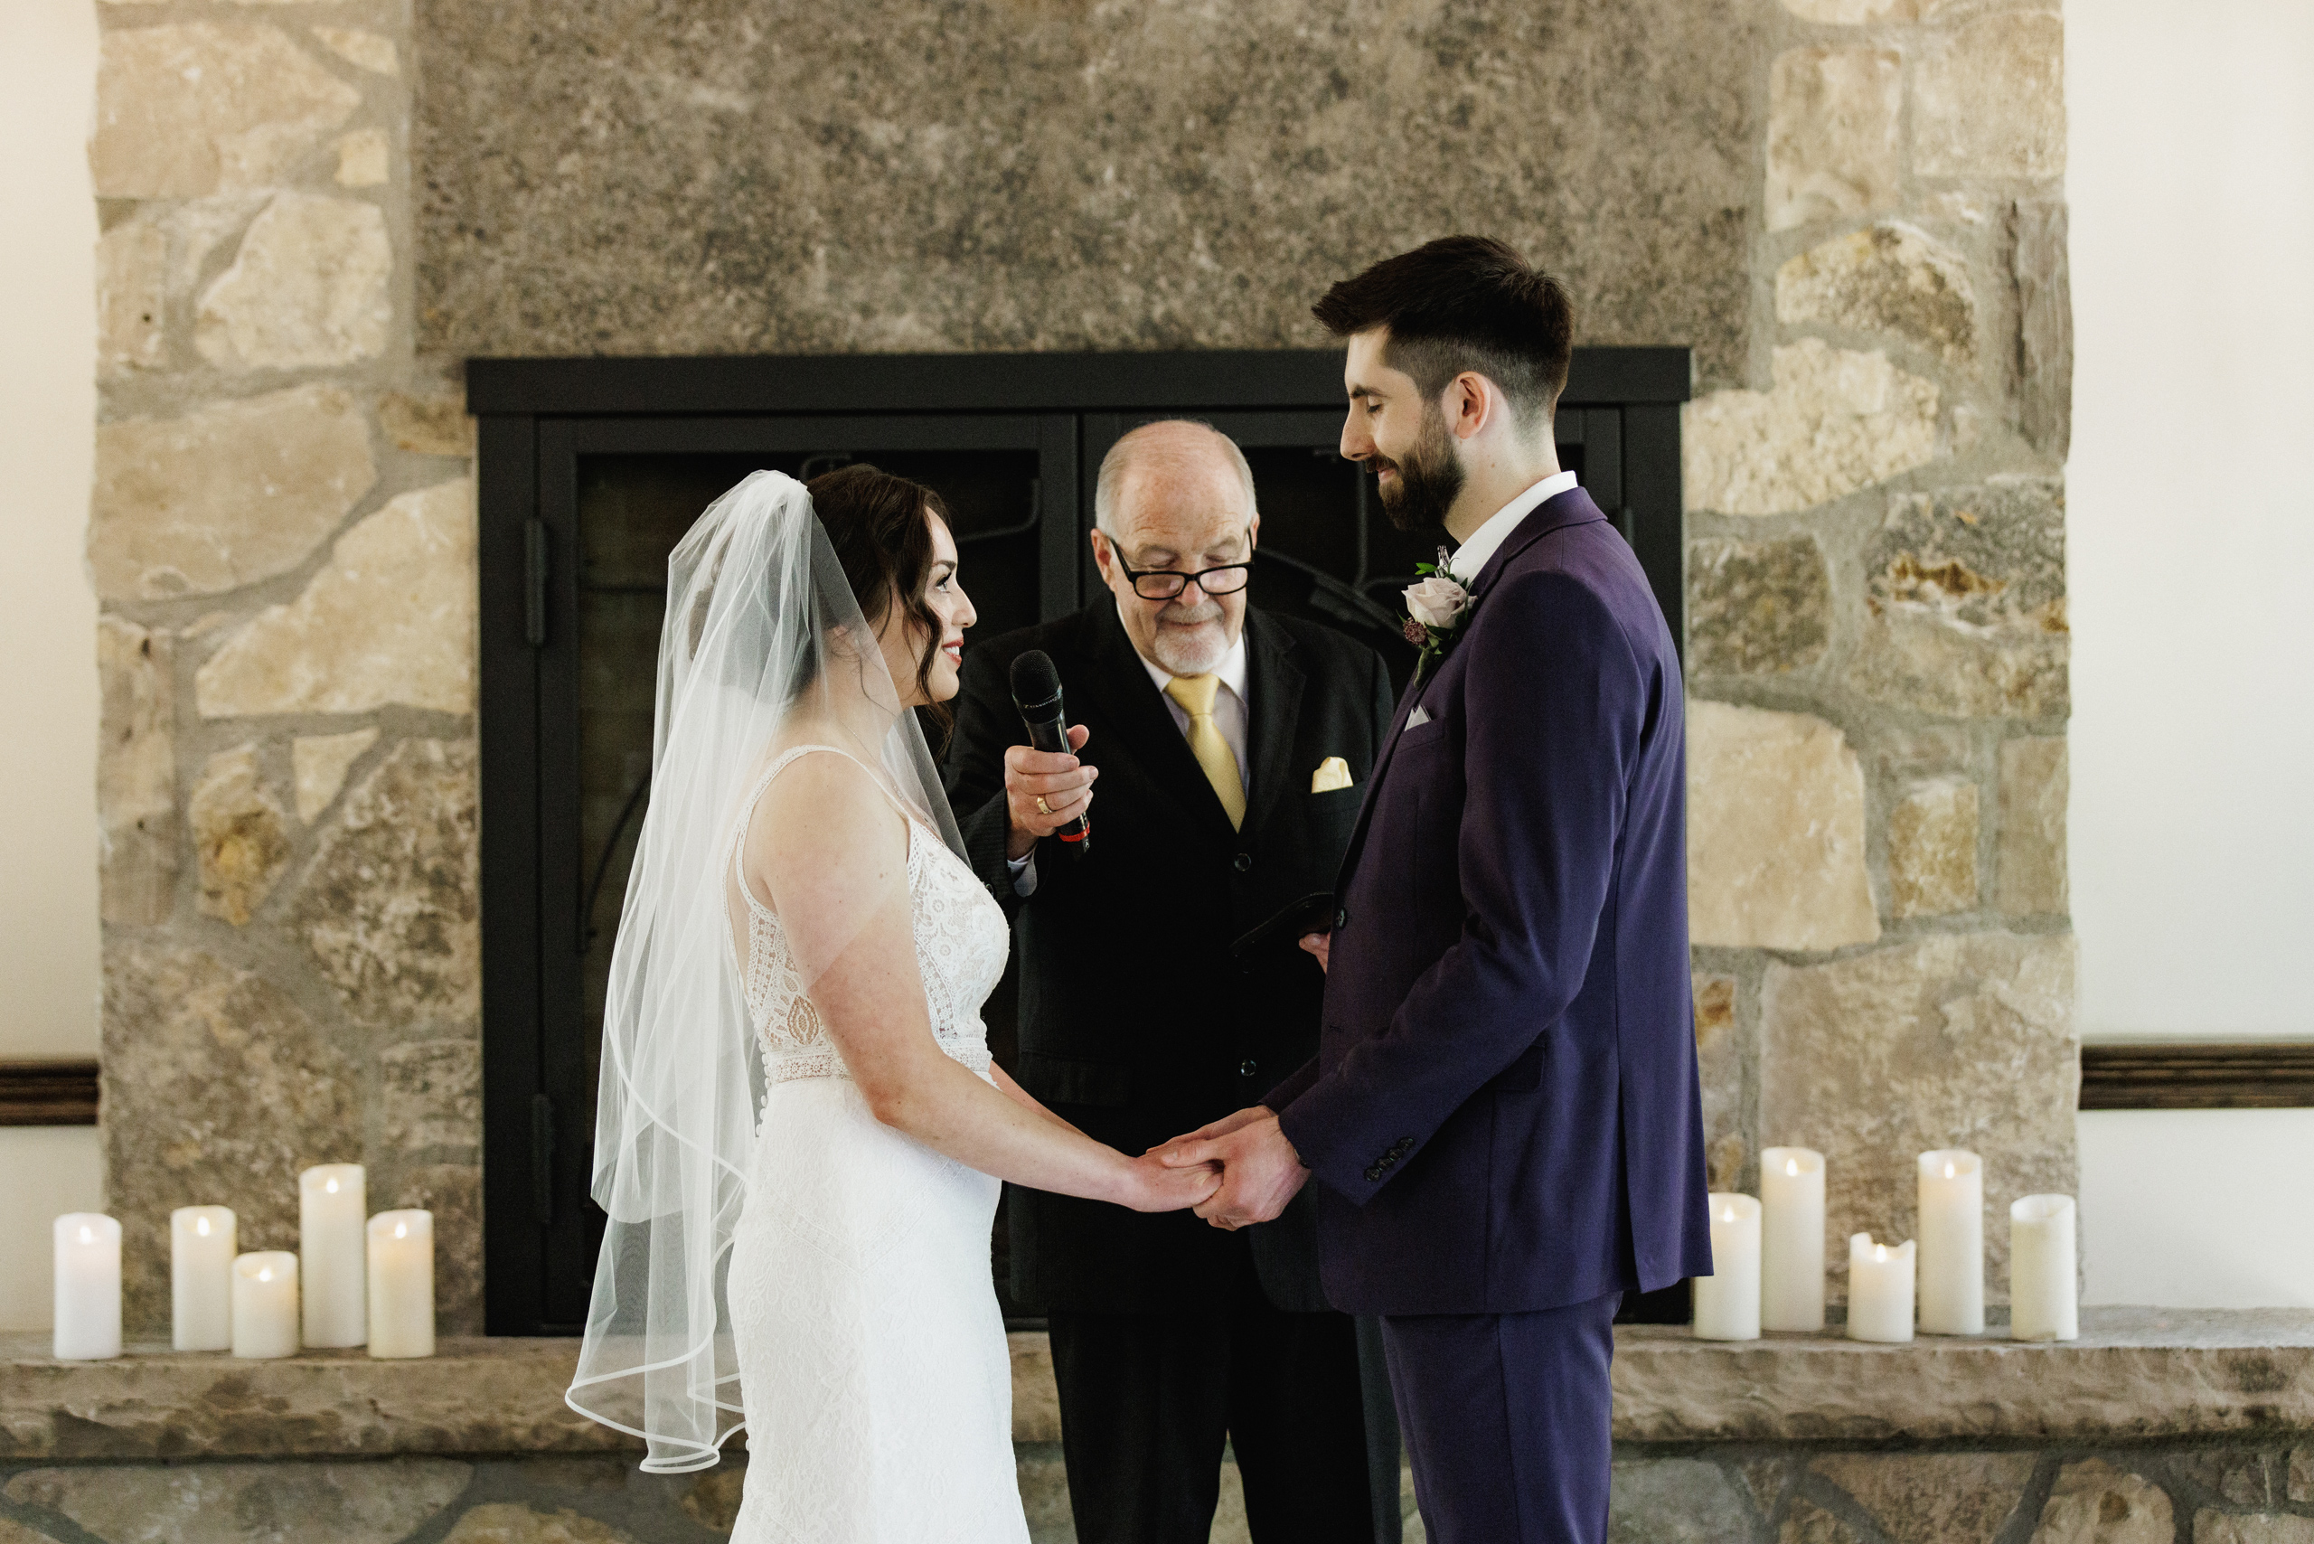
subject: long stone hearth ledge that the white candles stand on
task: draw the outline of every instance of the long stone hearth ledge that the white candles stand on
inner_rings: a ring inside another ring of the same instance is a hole
[[[562,1403],[576,1340],[444,1338],[423,1361],[132,1347],[56,1361],[0,1336],[0,1461],[590,1454],[636,1444]],[[1057,1442],[1053,1356],[1014,1333],[1014,1440]],[[2314,1313],[2083,1313],[2069,1345],[1863,1345],[1685,1329],[1615,1338],[1620,1442],[2032,1442],[2314,1431]]]

